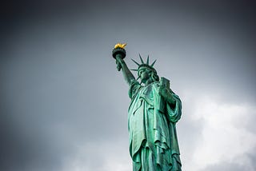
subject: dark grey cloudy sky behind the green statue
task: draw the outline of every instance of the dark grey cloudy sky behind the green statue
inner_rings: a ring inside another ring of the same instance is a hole
[[[129,171],[128,85],[150,55],[182,99],[185,171],[256,170],[255,6],[246,1],[22,1],[2,10],[0,170]]]

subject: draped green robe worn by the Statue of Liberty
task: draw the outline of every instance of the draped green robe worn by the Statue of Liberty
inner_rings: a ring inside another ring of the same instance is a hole
[[[128,110],[130,156],[134,171],[181,170],[175,123],[182,114],[178,95],[170,105],[158,94],[159,82],[145,87],[134,81],[130,84]]]

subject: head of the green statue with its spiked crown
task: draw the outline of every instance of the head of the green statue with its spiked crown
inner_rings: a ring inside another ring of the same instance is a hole
[[[138,78],[141,78],[142,83],[145,83],[148,79],[151,79],[153,82],[159,82],[157,71],[153,67],[156,60],[150,65],[149,56],[147,57],[146,63],[143,62],[141,55],[139,55],[139,58],[141,59],[141,64],[132,60],[138,65],[138,70],[135,71],[138,71]]]

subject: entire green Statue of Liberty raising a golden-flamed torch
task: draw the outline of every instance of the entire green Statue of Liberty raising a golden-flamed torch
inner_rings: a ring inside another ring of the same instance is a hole
[[[134,171],[181,171],[176,123],[182,114],[182,102],[170,89],[170,82],[159,77],[149,57],[136,69],[138,78],[126,66],[122,44],[113,50],[118,70],[130,86],[128,130],[130,157]],[[140,79],[141,82],[138,82]]]

